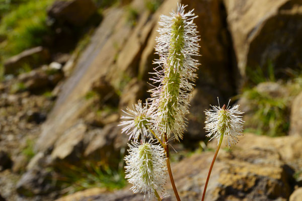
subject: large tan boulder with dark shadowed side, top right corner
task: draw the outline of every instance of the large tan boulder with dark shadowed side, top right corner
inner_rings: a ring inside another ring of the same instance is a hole
[[[257,66],[266,72],[269,62],[278,76],[286,67],[298,67],[302,62],[302,48],[296,45],[302,41],[300,1],[224,0],[224,3],[242,75]]]

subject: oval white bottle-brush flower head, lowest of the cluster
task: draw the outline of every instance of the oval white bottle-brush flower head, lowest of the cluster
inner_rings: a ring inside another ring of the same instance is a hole
[[[154,140],[147,143],[132,142],[129,145],[129,154],[125,156],[125,178],[132,184],[133,193],[141,192],[154,195],[154,190],[165,192],[167,181],[167,166],[165,150],[155,144]]]

